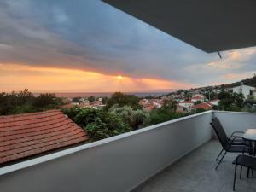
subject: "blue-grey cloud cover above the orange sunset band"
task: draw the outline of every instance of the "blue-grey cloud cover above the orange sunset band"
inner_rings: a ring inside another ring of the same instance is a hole
[[[255,71],[255,48],[223,52],[220,60],[218,54],[195,49],[102,1],[4,0],[0,4],[4,65],[121,74],[180,86],[224,83],[231,80],[229,74]]]

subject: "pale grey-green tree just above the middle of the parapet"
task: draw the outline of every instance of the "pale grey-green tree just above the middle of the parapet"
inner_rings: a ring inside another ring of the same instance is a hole
[[[147,112],[140,109],[134,110],[130,106],[124,106],[123,108],[113,106],[109,111],[110,113],[118,115],[134,130],[141,128],[149,117]]]

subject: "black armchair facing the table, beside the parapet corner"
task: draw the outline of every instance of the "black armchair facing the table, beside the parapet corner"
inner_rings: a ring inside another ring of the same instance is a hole
[[[242,139],[242,137],[235,136],[235,134],[238,133],[238,132],[240,133],[240,131],[232,133],[231,137],[227,137],[227,135],[224,131],[224,128],[220,124],[218,118],[212,119],[212,122],[210,124],[212,125],[212,128],[216,132],[218,140],[222,145],[222,150],[218,154],[218,157],[224,151],[223,156],[218,161],[218,164],[215,167],[216,170],[218,169],[218,166],[220,165],[220,163],[224,159],[224,156],[227,154],[227,152],[230,152],[230,153],[244,153],[244,152],[249,151],[249,149],[247,148],[247,143]],[[218,160],[218,157],[217,157],[216,160]]]

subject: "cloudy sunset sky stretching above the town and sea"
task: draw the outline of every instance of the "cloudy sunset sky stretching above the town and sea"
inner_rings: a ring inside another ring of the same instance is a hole
[[[221,55],[100,0],[0,0],[0,92],[189,89],[256,72],[256,48]]]

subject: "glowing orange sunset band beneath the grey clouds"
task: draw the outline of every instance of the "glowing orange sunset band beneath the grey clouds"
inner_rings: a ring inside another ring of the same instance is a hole
[[[27,65],[0,64],[0,90],[12,91],[25,88],[33,91],[147,91],[190,88],[183,84],[164,79],[131,78],[123,75],[64,69],[54,67],[30,67]],[[26,86],[25,86],[26,85]]]

